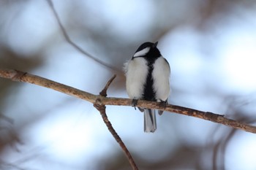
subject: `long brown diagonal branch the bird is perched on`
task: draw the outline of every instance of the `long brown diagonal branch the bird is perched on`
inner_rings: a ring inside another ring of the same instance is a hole
[[[43,77],[20,72],[17,70],[0,69],[0,77],[4,77],[4,78],[7,78],[13,81],[18,81],[18,82],[29,82],[31,84],[40,85],[45,88],[57,90],[61,93],[66,93],[70,96],[81,98],[93,104],[97,102],[102,105],[132,106],[132,99],[129,99],[129,98],[108,98],[104,96],[94,95],[82,90],[78,90],[76,88],[72,88],[67,85],[63,85],[59,82],[53,82],[52,80],[48,80]],[[231,128],[236,128],[242,131],[247,131],[247,132],[256,134],[256,126],[242,123],[237,120],[232,120],[225,117],[224,115],[218,115],[212,112],[203,112],[196,109],[180,107],[172,104],[167,104],[166,107],[163,107],[158,102],[144,101],[144,100],[138,101],[138,107],[143,107],[147,109],[161,109],[167,112],[173,112],[181,115],[197,117],[203,120],[209,120],[214,123],[220,123],[222,125],[227,125]]]

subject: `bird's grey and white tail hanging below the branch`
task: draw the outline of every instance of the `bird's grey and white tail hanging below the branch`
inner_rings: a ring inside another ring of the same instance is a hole
[[[144,131],[154,132],[157,129],[156,112],[154,109],[144,110]]]

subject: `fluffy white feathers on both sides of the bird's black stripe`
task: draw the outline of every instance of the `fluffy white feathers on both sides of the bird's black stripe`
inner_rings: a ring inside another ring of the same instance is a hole
[[[126,63],[126,87],[129,98],[143,98],[144,85],[148,75],[148,66],[145,58],[134,58]],[[154,79],[153,89],[157,101],[167,100],[170,94],[170,66],[162,56],[154,62],[152,72]]]

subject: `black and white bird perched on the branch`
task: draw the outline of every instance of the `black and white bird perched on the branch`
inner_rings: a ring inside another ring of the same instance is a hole
[[[170,66],[157,49],[157,43],[143,43],[132,59],[125,63],[127,93],[129,98],[134,99],[134,106],[138,99],[167,103]],[[139,109],[144,111],[144,131],[154,132],[157,129],[155,110]]]

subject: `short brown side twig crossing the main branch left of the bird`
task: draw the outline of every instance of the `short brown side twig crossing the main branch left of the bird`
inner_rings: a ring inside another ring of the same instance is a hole
[[[100,96],[107,96],[107,90],[108,87],[110,86],[111,82],[115,79],[116,75],[114,75],[105,85],[105,88],[103,88],[103,90],[99,93]],[[132,166],[133,170],[138,170],[138,167],[136,166],[135,161],[132,158],[132,155],[130,154],[129,150],[127,149],[127,147],[125,146],[124,142],[121,140],[120,136],[118,136],[118,134],[116,133],[115,129],[113,128],[112,124],[110,123],[110,120],[108,120],[108,116],[106,114],[106,107],[104,104],[102,104],[102,102],[99,101],[99,99],[97,99],[97,101],[94,103],[94,107],[99,110],[100,115],[102,115],[102,119],[104,121],[104,123],[107,125],[108,130],[110,131],[110,133],[113,135],[113,137],[116,139],[116,142],[118,142],[118,144],[120,145],[121,149],[124,150],[125,155],[127,155],[129,164]]]

